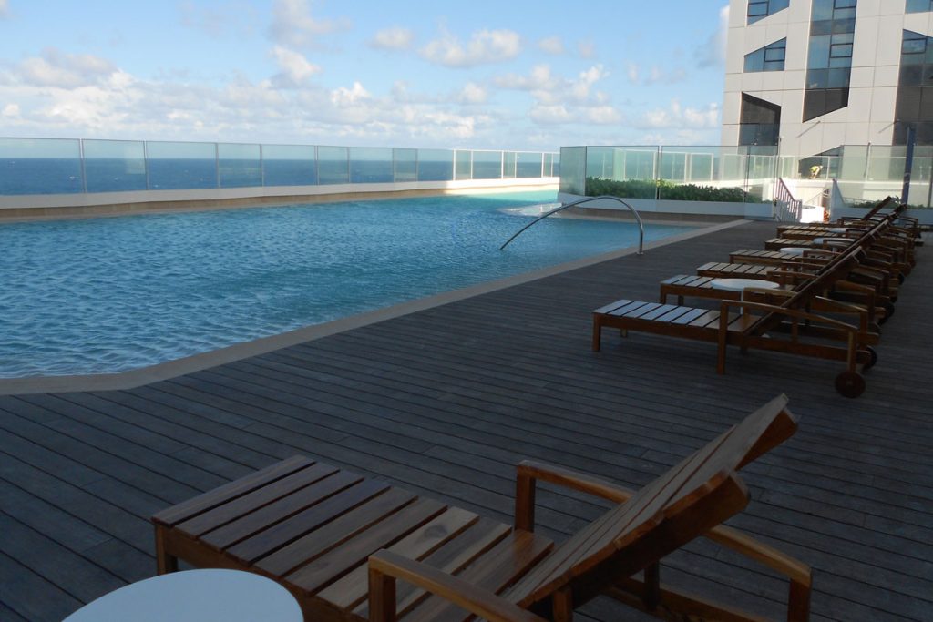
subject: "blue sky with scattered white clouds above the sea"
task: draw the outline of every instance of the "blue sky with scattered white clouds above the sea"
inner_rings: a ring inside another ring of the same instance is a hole
[[[727,0],[0,0],[0,137],[718,145]]]

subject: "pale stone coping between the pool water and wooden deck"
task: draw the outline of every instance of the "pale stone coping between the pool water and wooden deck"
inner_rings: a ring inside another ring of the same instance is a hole
[[[656,242],[645,244],[644,250],[648,251],[654,248],[660,248],[668,244],[683,242],[692,238],[700,237],[717,231],[738,227],[750,221],[746,218],[737,218],[725,223],[717,223],[707,227],[697,228],[695,230],[679,233],[669,238],[664,238]],[[664,223],[665,225],[675,225],[675,223]],[[688,223],[684,223],[688,224]],[[695,224],[695,223],[692,223]],[[514,276],[469,285],[460,289],[454,289],[449,292],[442,292],[428,297],[421,297],[406,302],[400,302],[390,307],[377,309],[374,311],[365,311],[356,313],[339,320],[333,320],[324,324],[303,326],[294,330],[279,333],[270,337],[262,337],[236,343],[224,348],[212,350],[210,352],[201,352],[192,354],[183,358],[158,363],[153,366],[138,367],[127,371],[115,372],[109,374],[82,374],[74,376],[32,376],[27,378],[8,378],[0,379],[0,395],[25,395],[40,393],[70,393],[84,391],[125,391],[135,389],[146,384],[159,382],[161,380],[171,380],[179,376],[202,371],[210,367],[227,365],[235,361],[242,361],[246,358],[267,354],[283,348],[306,343],[315,339],[322,339],[331,335],[361,328],[366,325],[377,324],[386,320],[392,320],[410,313],[425,311],[434,307],[446,305],[458,300],[464,300],[469,297],[481,296],[491,292],[530,283],[538,279],[544,279],[557,274],[562,274],[570,270],[578,270],[595,264],[618,259],[623,256],[637,254],[638,249],[635,246],[603,253],[601,255],[583,257],[574,261],[564,262],[549,268],[533,270],[531,272],[522,272]]]

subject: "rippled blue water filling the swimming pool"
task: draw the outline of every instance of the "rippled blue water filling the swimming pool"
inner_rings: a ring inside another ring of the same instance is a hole
[[[0,378],[106,373],[637,243],[548,218],[553,192],[0,226]],[[528,210],[526,210],[527,212]],[[688,230],[650,226],[646,241]]]

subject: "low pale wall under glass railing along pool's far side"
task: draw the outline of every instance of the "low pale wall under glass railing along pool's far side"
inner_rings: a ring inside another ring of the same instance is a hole
[[[443,194],[556,190],[558,177],[441,182],[228,187],[78,194],[0,195],[0,220],[145,214],[341,200],[402,199]]]

